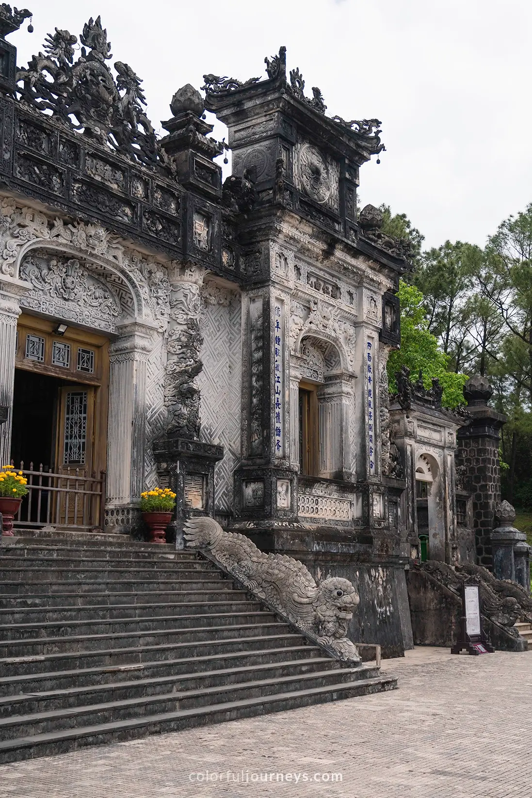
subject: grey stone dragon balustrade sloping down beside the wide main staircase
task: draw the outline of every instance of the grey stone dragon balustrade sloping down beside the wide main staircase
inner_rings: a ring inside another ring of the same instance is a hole
[[[334,651],[336,658],[359,662],[347,638],[347,623],[359,603],[351,582],[330,577],[316,584],[303,563],[280,554],[265,554],[245,535],[225,532],[212,518],[185,523],[190,547],[206,549],[249,591],[284,614],[295,626]]]

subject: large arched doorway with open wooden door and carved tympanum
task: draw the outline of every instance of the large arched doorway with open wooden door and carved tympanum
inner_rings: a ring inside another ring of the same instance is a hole
[[[98,258],[35,240],[19,254],[25,287],[6,443],[30,488],[20,526],[104,527],[105,500],[130,505],[142,489],[144,429],[132,425],[134,402],[125,400],[145,401],[135,389],[150,325],[139,321],[141,290],[115,249]]]

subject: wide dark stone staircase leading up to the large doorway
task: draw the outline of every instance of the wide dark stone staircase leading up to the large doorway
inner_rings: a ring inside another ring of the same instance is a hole
[[[125,535],[0,547],[0,764],[395,689],[200,555]]]

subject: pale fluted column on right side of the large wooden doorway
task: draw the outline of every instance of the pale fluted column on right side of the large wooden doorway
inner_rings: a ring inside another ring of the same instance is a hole
[[[152,328],[142,322],[117,329],[120,338],[109,346],[108,510],[138,500],[144,489],[146,361],[153,346]]]

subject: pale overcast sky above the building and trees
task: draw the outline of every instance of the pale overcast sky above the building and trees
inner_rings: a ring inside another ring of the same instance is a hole
[[[328,114],[382,120],[387,152],[360,170],[361,203],[405,212],[427,246],[482,245],[532,202],[530,0],[27,3],[34,33],[26,21],[10,36],[19,65],[54,27],[79,37],[101,14],[113,61],[144,79],[155,128],[181,85],[263,75],[264,56],[285,45]]]

